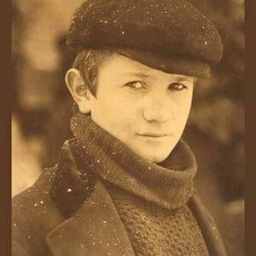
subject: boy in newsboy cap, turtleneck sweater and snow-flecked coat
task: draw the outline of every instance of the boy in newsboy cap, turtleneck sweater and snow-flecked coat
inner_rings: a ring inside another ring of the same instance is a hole
[[[89,0],[67,45],[74,137],[15,197],[13,255],[225,255],[181,139],[215,27],[183,0]]]

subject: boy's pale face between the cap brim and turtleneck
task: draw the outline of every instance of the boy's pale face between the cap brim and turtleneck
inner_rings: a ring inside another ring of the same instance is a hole
[[[194,78],[114,54],[99,67],[91,119],[143,159],[166,159],[189,116]]]

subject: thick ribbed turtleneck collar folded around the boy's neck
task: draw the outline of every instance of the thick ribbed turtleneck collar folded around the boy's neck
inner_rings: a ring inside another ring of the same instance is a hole
[[[103,180],[169,209],[189,201],[197,166],[194,154],[182,140],[164,162],[156,165],[134,154],[85,114],[76,114],[70,123],[76,137],[71,144],[74,154]]]

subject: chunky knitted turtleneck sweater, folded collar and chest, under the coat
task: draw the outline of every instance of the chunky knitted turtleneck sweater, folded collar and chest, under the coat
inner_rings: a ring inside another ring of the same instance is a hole
[[[134,154],[84,114],[73,117],[71,129],[76,137],[71,145],[74,154],[102,179],[137,255],[208,255],[187,206],[196,164],[183,141],[156,165]]]

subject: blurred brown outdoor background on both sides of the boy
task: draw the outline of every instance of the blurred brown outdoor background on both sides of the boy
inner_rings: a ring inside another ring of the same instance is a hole
[[[71,137],[65,33],[83,0],[13,0],[12,195],[55,164]],[[244,0],[189,0],[218,27],[224,58],[201,79],[184,138],[199,170],[195,187],[229,255],[244,255]]]

